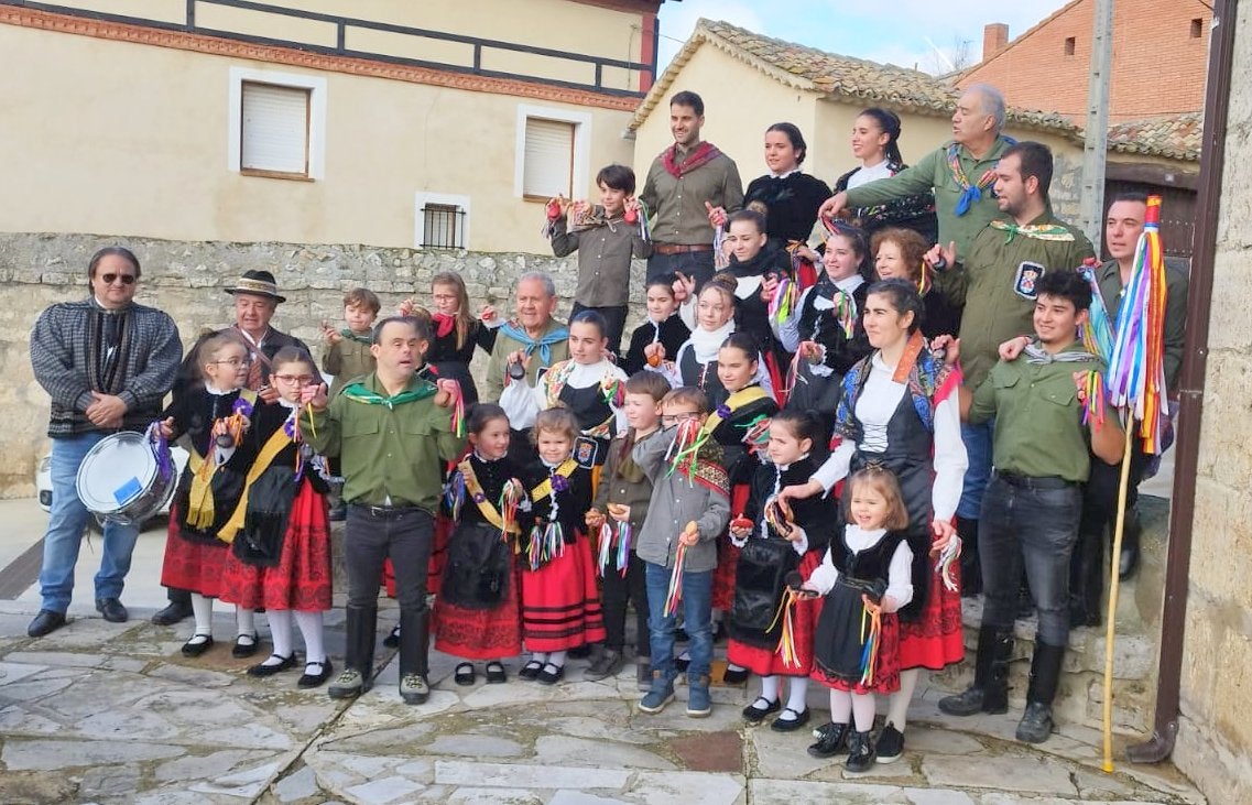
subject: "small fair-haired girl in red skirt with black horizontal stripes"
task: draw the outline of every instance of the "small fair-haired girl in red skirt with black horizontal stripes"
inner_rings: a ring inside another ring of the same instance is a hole
[[[605,638],[596,566],[583,520],[591,508],[591,471],[573,459],[578,421],[566,408],[535,418],[540,459],[522,469],[531,512],[522,555],[522,635],[531,660],[518,676],[555,685],[570,649]]]

